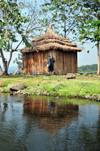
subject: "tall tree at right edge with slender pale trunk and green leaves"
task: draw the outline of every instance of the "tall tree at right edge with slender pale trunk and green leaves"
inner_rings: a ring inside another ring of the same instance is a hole
[[[80,1],[77,0],[77,4]],[[79,40],[82,43],[86,43],[88,40],[95,42],[98,52],[98,70],[97,74],[100,75],[100,1],[99,0],[81,0],[80,5],[81,13],[78,17],[81,17],[81,22],[78,26]],[[85,40],[85,41],[83,41]]]

